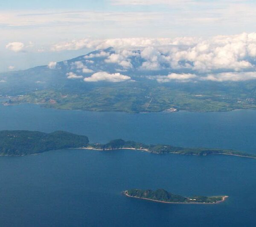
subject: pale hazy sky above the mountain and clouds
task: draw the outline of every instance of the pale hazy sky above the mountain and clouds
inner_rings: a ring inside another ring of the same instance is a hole
[[[255,0],[1,0],[0,71],[86,54],[85,39],[252,33],[255,12]]]

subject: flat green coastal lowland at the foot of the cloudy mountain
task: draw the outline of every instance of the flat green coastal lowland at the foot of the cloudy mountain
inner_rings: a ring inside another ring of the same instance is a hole
[[[77,91],[38,90],[14,97],[12,101],[36,103],[47,108],[129,113],[157,112],[169,108],[199,112],[256,109],[256,88],[247,87],[215,85],[213,82],[211,85],[189,86],[183,83],[123,82]]]

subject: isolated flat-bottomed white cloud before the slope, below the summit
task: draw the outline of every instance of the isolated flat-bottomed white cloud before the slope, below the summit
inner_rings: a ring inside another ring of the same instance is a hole
[[[107,81],[107,82],[123,82],[130,80],[131,77],[122,75],[120,73],[109,74],[107,72],[97,72],[90,77],[84,78],[85,82],[98,82],[98,81]]]

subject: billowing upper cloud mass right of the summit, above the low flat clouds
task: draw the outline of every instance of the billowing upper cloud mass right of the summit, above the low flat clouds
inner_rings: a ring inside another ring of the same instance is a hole
[[[78,41],[79,42],[79,41]],[[90,43],[90,40],[87,39]],[[95,48],[113,47],[111,53],[85,56],[103,57],[105,63],[133,68],[133,57],[141,58],[142,70],[190,69],[198,72],[254,70],[256,33],[215,36],[207,39],[178,37],[173,39],[110,39],[93,40]],[[89,45],[89,44],[88,44]]]

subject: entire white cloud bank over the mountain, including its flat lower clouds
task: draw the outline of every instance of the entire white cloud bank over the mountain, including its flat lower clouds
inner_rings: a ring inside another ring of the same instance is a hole
[[[52,51],[82,49],[84,46],[98,49],[84,56],[84,60],[73,63],[73,69],[78,73],[92,74],[84,78],[85,82],[121,82],[131,79],[130,76],[120,74],[121,71],[128,72],[128,75],[134,72],[137,76],[143,72],[145,77],[160,83],[256,79],[256,33],[208,39],[73,40],[64,45],[53,45]],[[70,75],[70,78],[76,77]]]

